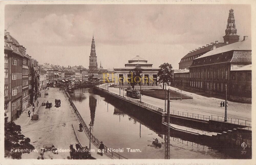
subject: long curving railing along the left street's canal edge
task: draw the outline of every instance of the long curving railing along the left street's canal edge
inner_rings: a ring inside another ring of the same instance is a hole
[[[76,106],[74,105],[73,101],[70,99],[70,96],[69,96],[68,92],[65,91],[65,93],[66,93],[67,97],[69,98],[68,100],[69,100],[69,102],[70,102],[71,107],[74,109],[74,112],[77,114],[78,119],[79,119],[80,122],[83,124],[84,130],[85,130],[85,132],[86,132],[87,137],[90,138],[90,136],[91,136],[91,142],[92,142],[95,146],[97,146],[97,147],[99,148],[101,141],[98,140],[97,138],[95,138],[95,136],[93,136],[92,133],[90,134],[90,129],[88,128],[88,126],[87,126],[86,123],[84,122],[82,116],[80,115],[80,113],[79,113],[79,111],[77,110]],[[106,147],[105,145],[104,145],[104,152],[105,152],[108,156],[111,156],[111,157],[114,158],[114,159],[127,159],[127,158],[125,158],[124,156],[122,156],[122,155],[120,155],[120,154],[118,154],[118,153],[116,153],[116,152],[113,152],[113,151],[109,150],[109,148]]]

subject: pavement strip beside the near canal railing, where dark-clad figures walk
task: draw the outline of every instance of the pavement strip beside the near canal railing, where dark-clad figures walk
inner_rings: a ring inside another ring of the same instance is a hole
[[[77,136],[77,139],[83,147],[88,146],[88,148],[89,148],[90,140],[87,137],[85,131],[83,131],[83,132],[79,131],[79,124],[80,123],[78,121],[73,122],[74,131]],[[94,152],[92,152],[92,150],[94,150]],[[92,157],[94,157],[96,159],[111,159],[108,156],[106,156],[105,154],[103,154],[101,156],[97,152],[98,152],[98,148],[93,143],[91,143],[91,156]]]

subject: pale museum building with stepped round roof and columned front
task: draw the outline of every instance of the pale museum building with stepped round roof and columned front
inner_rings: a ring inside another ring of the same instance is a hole
[[[158,86],[157,73],[159,71],[158,67],[153,67],[153,64],[148,63],[148,61],[141,56],[135,56],[128,60],[125,67],[114,68],[115,85],[129,86],[131,75],[129,72],[134,68],[141,68],[142,70],[142,86]],[[129,81],[127,81],[127,79]],[[119,84],[121,83],[121,84]]]

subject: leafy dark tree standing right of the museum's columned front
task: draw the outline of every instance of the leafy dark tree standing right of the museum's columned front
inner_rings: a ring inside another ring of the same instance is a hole
[[[172,64],[163,63],[159,66],[160,70],[157,73],[159,76],[159,82],[163,83],[163,89],[165,85],[170,85],[173,81],[172,78]]]

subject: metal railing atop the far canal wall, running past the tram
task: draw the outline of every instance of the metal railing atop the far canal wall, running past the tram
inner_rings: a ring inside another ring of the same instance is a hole
[[[120,96],[116,93],[110,92],[110,91],[108,91],[106,89],[103,89],[103,88],[99,88],[99,87],[94,87],[94,88],[96,88],[98,90],[101,90],[101,91],[104,91],[104,92],[107,92],[107,93],[111,93],[112,95],[114,95],[116,97],[119,97],[119,98],[122,98],[122,99],[125,99],[125,100],[129,100],[130,102],[133,102],[133,103],[135,103],[135,104],[137,104],[137,105],[139,105],[143,108],[147,108],[147,109],[154,110],[154,111],[161,112],[161,113],[164,112],[164,110],[162,108],[156,107],[154,105],[144,103],[144,102],[138,101],[138,100],[130,98],[130,97],[123,97],[123,96]]]

